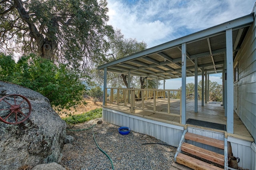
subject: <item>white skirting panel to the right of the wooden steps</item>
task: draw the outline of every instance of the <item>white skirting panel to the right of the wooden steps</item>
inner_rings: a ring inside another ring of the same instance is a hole
[[[240,158],[238,166],[256,170],[256,145],[254,142],[241,140],[228,136],[228,141],[231,143],[233,156]]]

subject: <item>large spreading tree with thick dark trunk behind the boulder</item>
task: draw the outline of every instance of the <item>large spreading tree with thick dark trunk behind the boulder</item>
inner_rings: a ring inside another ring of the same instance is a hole
[[[106,0],[0,1],[0,51],[37,53],[73,68],[105,60]]]

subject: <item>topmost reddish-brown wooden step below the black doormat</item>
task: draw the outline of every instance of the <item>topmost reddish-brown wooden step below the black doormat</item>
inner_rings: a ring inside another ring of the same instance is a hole
[[[185,139],[224,149],[224,141],[187,132]]]

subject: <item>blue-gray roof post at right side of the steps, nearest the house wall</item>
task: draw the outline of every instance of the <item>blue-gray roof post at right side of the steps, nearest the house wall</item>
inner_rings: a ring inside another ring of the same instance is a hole
[[[233,43],[232,29],[226,30],[226,50],[227,50],[227,132],[234,133],[234,76],[233,76]]]

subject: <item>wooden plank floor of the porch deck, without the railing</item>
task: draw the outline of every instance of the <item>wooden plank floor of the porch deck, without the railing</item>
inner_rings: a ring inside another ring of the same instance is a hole
[[[130,105],[124,106],[124,104],[110,104],[107,103],[107,106],[110,109],[117,111],[122,111],[131,115],[136,115],[144,117],[146,119],[152,119],[156,121],[161,121],[164,123],[184,126],[180,124],[180,100],[171,99],[170,100],[170,114],[167,113],[167,99],[157,99],[156,100],[156,112],[153,112],[153,99],[144,101],[144,109],[142,109],[142,102],[135,102],[135,113],[130,113]],[[177,115],[177,116],[173,116]],[[204,106],[201,106],[201,101],[198,101],[198,113],[194,112],[194,100],[186,100],[186,120],[187,119],[196,119],[201,121],[207,121],[212,123],[219,123],[226,125],[227,118],[225,117],[225,111],[223,106],[220,103],[204,103]],[[234,134],[228,134],[235,138],[240,138],[247,141],[254,141],[240,118],[234,113]]]

